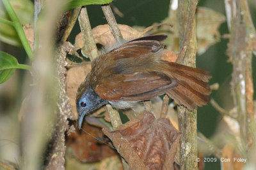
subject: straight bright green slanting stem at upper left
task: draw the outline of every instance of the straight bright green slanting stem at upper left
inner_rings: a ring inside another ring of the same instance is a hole
[[[24,46],[24,49],[26,50],[26,53],[28,54],[29,59],[33,58],[33,52],[29,46],[28,40],[25,36],[25,33],[22,29],[22,25],[20,24],[19,18],[17,17],[15,11],[13,10],[11,4],[8,0],[3,0],[4,6],[6,8],[6,11],[10,15],[10,18],[12,19],[12,25],[17,31],[17,34],[19,35],[20,41],[22,45]]]

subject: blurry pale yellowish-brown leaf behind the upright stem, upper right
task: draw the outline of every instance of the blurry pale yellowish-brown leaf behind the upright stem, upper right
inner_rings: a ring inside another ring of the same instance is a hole
[[[210,8],[196,8],[196,38],[198,54],[204,53],[209,46],[220,41],[220,25],[225,22],[225,16]],[[166,49],[173,52],[179,52],[179,28],[177,20],[177,10],[170,8],[169,17],[165,18],[162,23],[172,24],[173,27],[159,27],[154,29],[154,34],[167,34],[168,38],[164,41]]]

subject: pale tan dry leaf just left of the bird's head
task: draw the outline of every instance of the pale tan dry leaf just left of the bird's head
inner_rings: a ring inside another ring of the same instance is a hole
[[[81,66],[71,67],[67,71],[66,76],[66,87],[67,87],[67,96],[69,97],[70,104],[72,106],[72,113],[74,118],[77,119],[77,110],[76,110],[76,92],[79,85],[84,81],[86,74],[91,70],[90,64],[85,64]]]

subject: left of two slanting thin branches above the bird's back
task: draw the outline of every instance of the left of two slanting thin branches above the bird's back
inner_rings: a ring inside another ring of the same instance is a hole
[[[93,38],[92,27],[90,24],[86,7],[81,9],[78,21],[84,40],[84,48],[82,50],[82,53],[85,57],[89,57],[90,60],[93,60],[96,57],[98,57],[99,53]]]

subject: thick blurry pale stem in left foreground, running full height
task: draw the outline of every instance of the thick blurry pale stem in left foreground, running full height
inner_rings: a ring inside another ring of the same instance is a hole
[[[61,1],[51,1],[51,3],[46,1],[44,18],[35,23],[36,30],[34,32],[38,34],[37,39],[40,48],[37,48],[35,52],[33,86],[29,86],[29,96],[24,100],[22,117],[22,154],[24,156],[22,169],[26,170],[42,168],[42,163],[44,162],[42,155],[45,153],[46,145],[55,130],[52,127],[55,127],[57,120],[58,86],[56,82],[56,67],[54,66],[56,60],[53,57],[55,50],[53,48],[54,25],[58,15],[61,13],[62,4]],[[42,1],[35,1],[36,21],[42,6]],[[65,146],[61,149],[65,153]],[[64,169],[64,155],[61,157],[61,165],[58,164],[58,169]],[[57,160],[56,162],[59,161]]]

